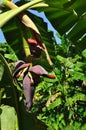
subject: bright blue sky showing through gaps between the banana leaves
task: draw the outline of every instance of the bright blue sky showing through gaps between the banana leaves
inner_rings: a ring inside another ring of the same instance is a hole
[[[16,1],[18,1],[18,0],[14,0],[14,2],[16,2]],[[33,13],[33,14],[35,14],[35,15],[41,17],[41,18],[43,18],[44,21],[45,21],[46,23],[48,23],[48,29],[49,29],[49,30],[52,30],[52,31],[54,32],[54,36],[55,36],[55,38],[56,38],[56,42],[57,42],[57,43],[60,43],[61,40],[56,36],[57,31],[53,28],[53,26],[51,25],[51,23],[47,20],[47,18],[45,17],[44,13],[43,13],[43,12],[39,13],[39,12],[37,12],[37,11],[35,11],[35,10],[29,10],[29,11],[30,11],[31,13]],[[2,42],[5,42],[5,38],[4,38],[4,35],[3,35],[3,32],[1,31],[1,29],[0,29],[0,42],[1,42],[1,43],[2,43]]]

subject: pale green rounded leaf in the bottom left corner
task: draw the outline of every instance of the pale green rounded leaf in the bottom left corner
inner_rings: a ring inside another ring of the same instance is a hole
[[[18,130],[18,118],[13,107],[1,106],[0,115],[1,130]]]

